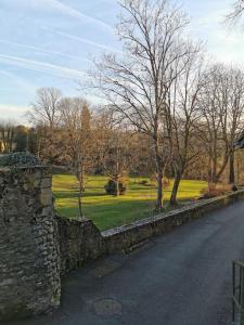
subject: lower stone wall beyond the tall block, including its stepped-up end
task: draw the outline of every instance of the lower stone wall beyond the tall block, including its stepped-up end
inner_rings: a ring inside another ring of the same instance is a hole
[[[68,220],[57,217],[62,275],[104,253],[128,252],[152,236],[168,233],[178,225],[202,218],[209,211],[243,198],[244,191],[239,191],[227,196],[200,200],[191,206],[102,233],[90,220]]]

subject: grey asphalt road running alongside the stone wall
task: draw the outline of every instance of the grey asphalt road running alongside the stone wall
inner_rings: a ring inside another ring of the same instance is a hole
[[[244,203],[72,272],[57,312],[11,324],[231,324],[234,259],[244,260]]]

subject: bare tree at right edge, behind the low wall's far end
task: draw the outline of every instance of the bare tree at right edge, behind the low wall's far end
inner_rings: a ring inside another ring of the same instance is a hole
[[[243,128],[243,73],[216,65],[205,79],[201,132],[209,159],[209,182],[220,180],[230,159],[229,182],[234,183],[234,141]]]

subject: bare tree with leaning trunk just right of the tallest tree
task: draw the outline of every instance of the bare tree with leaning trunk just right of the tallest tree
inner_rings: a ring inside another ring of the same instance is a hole
[[[184,72],[172,83],[168,105],[170,119],[168,133],[171,135],[171,166],[175,173],[171,205],[177,203],[178,187],[185,170],[194,164],[201,153],[195,143],[197,142],[196,123],[201,118],[200,91],[204,86],[202,76],[204,62],[197,47],[189,51],[183,60]]]

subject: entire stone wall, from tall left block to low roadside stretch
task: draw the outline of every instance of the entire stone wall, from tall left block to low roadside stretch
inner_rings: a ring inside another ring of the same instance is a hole
[[[100,233],[90,220],[57,217],[49,168],[0,168],[0,323],[60,304],[61,275],[105,253],[130,251],[152,236],[244,199],[244,191],[198,202]]]

